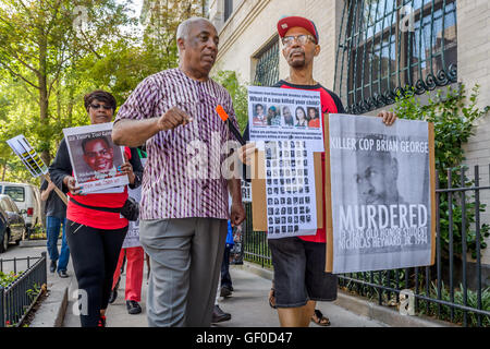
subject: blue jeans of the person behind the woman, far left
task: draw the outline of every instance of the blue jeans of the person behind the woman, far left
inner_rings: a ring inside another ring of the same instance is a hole
[[[63,237],[61,240],[61,252],[58,253],[58,237],[60,236],[61,224],[63,224]],[[47,234],[47,248],[49,258],[51,261],[58,261],[58,272],[66,272],[66,266],[70,260],[70,249],[66,243],[66,234],[64,232],[64,227],[66,225],[66,219],[60,219],[58,217],[48,216],[46,217],[46,234]]]

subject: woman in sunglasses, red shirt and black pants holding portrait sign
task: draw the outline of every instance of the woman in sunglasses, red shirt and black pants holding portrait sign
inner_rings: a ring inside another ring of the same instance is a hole
[[[91,124],[112,121],[117,103],[110,93],[95,91],[84,99]],[[125,163],[117,170],[127,176],[130,188],[137,188],[143,174],[137,151],[125,148],[124,158]],[[103,193],[84,192],[73,177],[65,139],[61,141],[49,171],[52,181],[62,184],[70,196],[66,240],[78,282],[78,302],[83,305],[82,327],[105,327],[112,276],[128,227],[128,220],[120,213],[128,196],[127,185],[111,188]]]

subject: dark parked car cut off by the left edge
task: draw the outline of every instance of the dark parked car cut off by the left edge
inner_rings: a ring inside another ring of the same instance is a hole
[[[9,195],[0,194],[0,207],[7,215],[7,230],[8,232],[3,233],[1,239],[1,248],[7,250],[10,242],[14,242],[19,244],[22,239],[24,239],[26,233],[25,220],[21,215],[15,202]],[[8,238],[8,242],[5,243],[5,238]]]

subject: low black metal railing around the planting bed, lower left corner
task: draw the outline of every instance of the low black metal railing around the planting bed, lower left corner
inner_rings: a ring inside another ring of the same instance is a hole
[[[47,282],[46,252],[40,257],[0,260],[0,272],[5,273],[8,264],[15,279],[7,286],[0,285],[0,327],[22,325],[25,316],[42,292]],[[26,269],[20,265],[26,265]]]

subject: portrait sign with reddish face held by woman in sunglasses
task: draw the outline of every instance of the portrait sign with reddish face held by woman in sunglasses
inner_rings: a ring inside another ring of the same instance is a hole
[[[124,164],[123,147],[112,142],[112,123],[94,124],[63,130],[73,173],[84,193],[128,183],[118,167]]]

